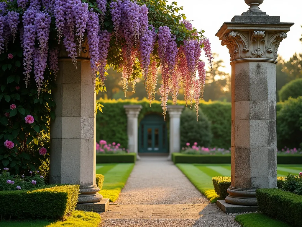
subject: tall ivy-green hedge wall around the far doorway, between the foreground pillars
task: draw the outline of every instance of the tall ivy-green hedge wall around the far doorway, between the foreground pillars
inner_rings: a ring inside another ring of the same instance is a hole
[[[108,143],[120,143],[122,147],[128,146],[127,137],[127,115],[124,105],[141,105],[139,122],[150,113],[162,116],[161,102],[153,101],[149,107],[149,100],[98,100],[104,105],[103,113],[96,115],[96,140],[106,140]],[[172,102],[168,102],[172,105]],[[178,105],[184,105],[184,101],[178,101]],[[190,109],[190,106],[187,107]],[[211,146],[221,148],[230,148],[231,146],[231,103],[228,102],[205,102],[201,101],[200,110],[207,116],[211,122],[213,139]],[[192,111],[195,111],[192,106]],[[194,118],[196,120],[196,118]],[[169,137],[169,114],[166,115]],[[182,122],[185,124],[185,122]],[[185,135],[181,135],[184,137]],[[169,139],[169,138],[168,138]]]

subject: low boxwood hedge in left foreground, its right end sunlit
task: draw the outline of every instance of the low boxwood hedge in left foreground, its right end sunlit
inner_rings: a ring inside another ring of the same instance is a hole
[[[0,214],[4,219],[63,219],[75,210],[78,196],[79,185],[0,191]]]

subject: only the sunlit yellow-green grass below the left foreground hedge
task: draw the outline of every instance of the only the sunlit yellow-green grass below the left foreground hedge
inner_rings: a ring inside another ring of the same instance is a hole
[[[73,211],[65,221],[58,221],[46,227],[97,227],[101,223],[101,216],[95,212]]]

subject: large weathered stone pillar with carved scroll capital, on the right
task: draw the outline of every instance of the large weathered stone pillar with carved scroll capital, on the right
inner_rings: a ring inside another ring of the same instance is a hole
[[[216,36],[232,65],[232,183],[225,201],[257,205],[258,188],[277,187],[276,64],[280,42],[293,23],[280,23],[245,0],[248,12],[225,22]]]

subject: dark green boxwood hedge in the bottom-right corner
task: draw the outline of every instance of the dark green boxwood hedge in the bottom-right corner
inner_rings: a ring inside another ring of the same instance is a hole
[[[302,227],[302,196],[280,189],[257,189],[256,197],[259,211],[292,226]]]

